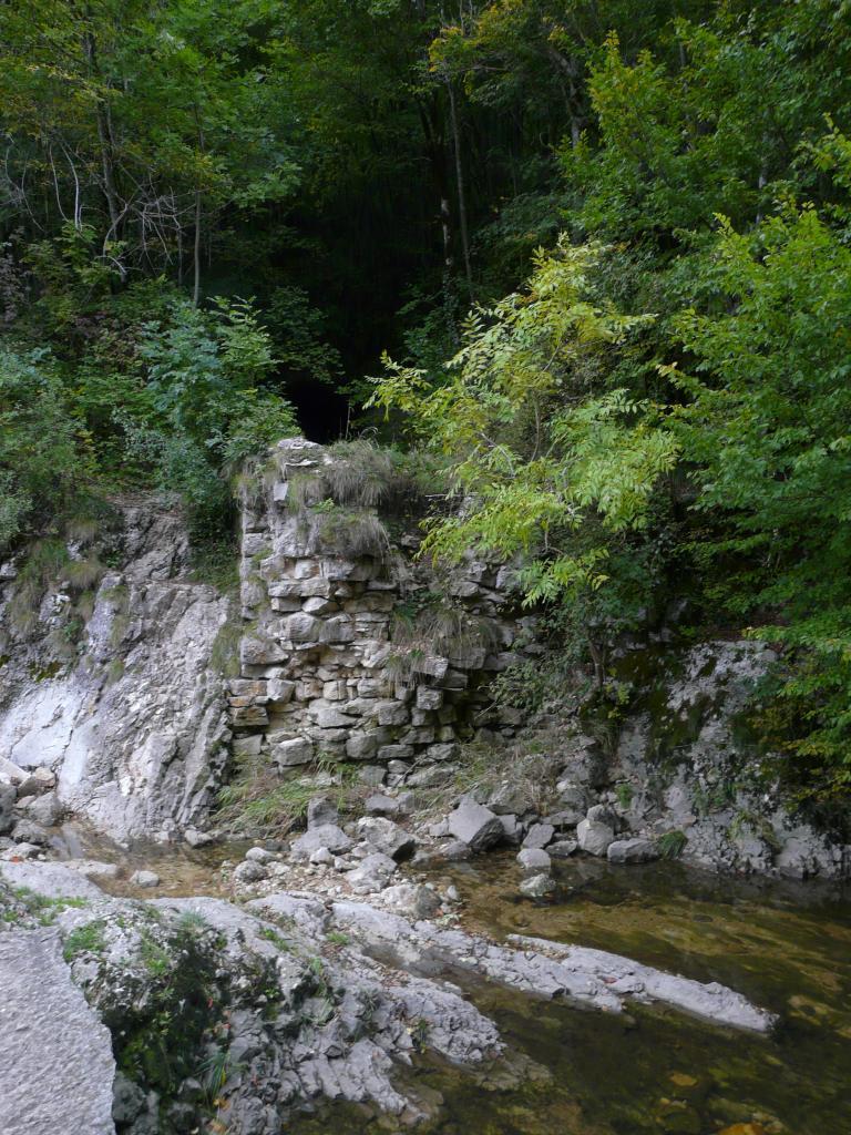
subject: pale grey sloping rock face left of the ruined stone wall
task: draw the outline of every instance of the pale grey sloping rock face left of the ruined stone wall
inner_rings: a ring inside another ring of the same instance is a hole
[[[227,757],[210,657],[228,602],[189,580],[177,516],[155,503],[121,516],[120,566],[100,578],[70,656],[54,653],[69,625],[67,580],[22,630],[12,611],[24,581],[6,565],[0,757],[49,767],[66,809],[107,834],[167,839],[207,815]]]

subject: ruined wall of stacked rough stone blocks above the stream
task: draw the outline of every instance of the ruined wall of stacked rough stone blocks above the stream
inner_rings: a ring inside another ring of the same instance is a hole
[[[332,524],[322,531],[331,514],[374,528],[374,510],[294,503],[296,481],[320,481],[332,460],[301,438],[280,442],[271,471],[243,494],[234,750],[268,754],[281,770],[319,758],[362,762],[376,780],[386,771],[398,783],[414,765],[454,759],[458,740],[482,729],[513,732],[516,711],[494,707],[487,688],[522,657],[519,640],[531,638],[531,624],[509,611],[512,572],[470,560],[441,585],[466,628],[461,639],[391,641],[394,609],[438,585],[413,561],[412,531],[356,556],[339,546]]]

